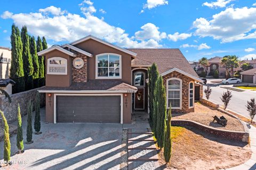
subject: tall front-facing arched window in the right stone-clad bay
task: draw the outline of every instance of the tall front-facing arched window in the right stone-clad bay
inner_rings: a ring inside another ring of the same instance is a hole
[[[170,78],[166,81],[167,89],[167,108],[181,109],[182,103],[182,80]]]

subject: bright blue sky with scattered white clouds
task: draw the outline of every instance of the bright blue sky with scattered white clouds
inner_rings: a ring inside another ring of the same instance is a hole
[[[12,23],[49,46],[93,35],[126,48],[180,48],[187,60],[256,58],[256,0],[2,0],[0,46]]]

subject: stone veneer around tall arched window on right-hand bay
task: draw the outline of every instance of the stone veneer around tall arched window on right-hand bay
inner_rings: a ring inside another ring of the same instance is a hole
[[[190,108],[188,106],[188,84],[190,81],[195,82],[193,79],[180,74],[177,71],[173,71],[170,74],[167,74],[165,76],[163,76],[163,80],[164,80],[164,86],[166,88],[166,80],[169,78],[180,78],[182,80],[182,103],[181,103],[181,109],[172,109],[173,113],[188,113],[188,112],[193,112],[194,108]]]

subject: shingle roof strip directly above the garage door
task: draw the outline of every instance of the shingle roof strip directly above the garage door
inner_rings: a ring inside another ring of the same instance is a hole
[[[86,83],[71,83],[69,87],[49,87],[44,86],[40,88],[39,91],[58,91],[58,90],[68,90],[68,91],[94,91],[94,90],[104,90],[104,91],[118,91],[118,90],[137,90],[137,87],[131,86],[120,80],[89,80]]]

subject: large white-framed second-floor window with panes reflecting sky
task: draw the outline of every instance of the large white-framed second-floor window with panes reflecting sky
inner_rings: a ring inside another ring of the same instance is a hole
[[[96,78],[121,78],[121,55],[112,53],[96,55]]]

